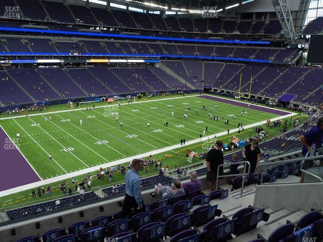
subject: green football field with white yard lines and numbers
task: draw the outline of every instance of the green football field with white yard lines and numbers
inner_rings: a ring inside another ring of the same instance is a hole
[[[265,107],[251,105],[248,108],[224,100],[188,96],[133,104],[121,102],[122,105],[91,110],[73,109],[0,119],[0,125],[33,169],[46,179],[135,155],[140,158],[141,154],[161,148],[167,150],[169,147],[172,152],[171,146],[178,145],[181,139],[186,142],[199,139],[206,127],[205,136],[210,136],[237,129],[238,123],[245,127],[283,115],[277,109],[268,109],[268,112],[262,110]],[[184,118],[186,107],[189,110]],[[208,113],[219,116],[219,120],[211,120]],[[225,119],[229,119],[229,125],[225,125]],[[19,140],[16,139],[17,133],[20,134]]]

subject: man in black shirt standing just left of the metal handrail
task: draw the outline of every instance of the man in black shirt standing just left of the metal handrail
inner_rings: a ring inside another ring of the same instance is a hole
[[[210,191],[214,190],[214,182],[216,181],[218,166],[223,164],[223,142],[218,140],[216,145],[207,152],[206,155],[206,179],[208,181],[208,186]],[[223,166],[220,167],[219,174],[223,174]]]

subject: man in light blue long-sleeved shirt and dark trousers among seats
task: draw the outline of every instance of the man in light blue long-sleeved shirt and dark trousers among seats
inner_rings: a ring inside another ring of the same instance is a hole
[[[139,170],[141,169],[141,160],[134,159],[131,169],[126,173],[126,196],[122,206],[120,218],[126,218],[131,214],[131,209],[134,213],[144,212],[144,203],[141,198],[141,186],[139,178]]]

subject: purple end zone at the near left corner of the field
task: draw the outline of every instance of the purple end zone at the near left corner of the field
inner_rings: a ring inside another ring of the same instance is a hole
[[[0,127],[0,191],[39,181],[40,178]]]

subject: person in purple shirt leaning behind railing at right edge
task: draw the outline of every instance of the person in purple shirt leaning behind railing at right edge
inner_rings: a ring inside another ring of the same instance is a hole
[[[317,125],[312,129],[307,131],[305,134],[300,136],[300,140],[303,144],[302,154],[305,157],[308,151],[311,151],[312,145],[321,146],[323,142],[323,117],[320,117],[317,121]],[[304,162],[303,169],[313,166],[313,161],[307,160]],[[302,172],[301,180],[302,183],[304,181],[305,173]]]

